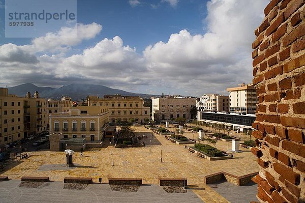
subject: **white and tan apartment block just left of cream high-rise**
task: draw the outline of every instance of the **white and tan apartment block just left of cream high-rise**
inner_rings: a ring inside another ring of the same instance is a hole
[[[229,96],[204,94],[196,104],[198,111],[229,111]]]

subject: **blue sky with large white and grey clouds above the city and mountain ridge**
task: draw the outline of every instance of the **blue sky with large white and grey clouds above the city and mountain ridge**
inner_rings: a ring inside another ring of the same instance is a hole
[[[228,94],[252,81],[251,44],[267,0],[79,0],[77,26],[5,38],[0,86],[101,84],[147,94]],[[77,32],[77,38],[70,37]]]

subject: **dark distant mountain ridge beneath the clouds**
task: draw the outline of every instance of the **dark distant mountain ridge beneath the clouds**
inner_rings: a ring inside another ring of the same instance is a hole
[[[54,99],[60,99],[62,96],[72,97],[73,100],[80,100],[81,98],[86,98],[88,95],[97,95],[98,97],[104,97],[104,95],[125,95],[125,96],[140,96],[142,98],[150,98],[156,95],[147,94],[137,94],[130,93],[123,90],[108,88],[103,85],[94,84],[69,84],[64,85],[60,88],[50,88],[50,87],[39,87],[32,83],[20,84],[13,86],[9,89],[9,94],[14,94],[19,97],[25,97],[27,92],[31,92],[33,95],[35,91],[39,92],[40,97],[45,97],[46,99],[53,97]]]

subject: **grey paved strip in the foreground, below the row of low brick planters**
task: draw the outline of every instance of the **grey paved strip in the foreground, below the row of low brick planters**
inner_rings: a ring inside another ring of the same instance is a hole
[[[63,182],[44,183],[38,188],[18,187],[20,180],[0,182],[0,202],[202,202],[192,190],[167,193],[158,185],[140,186],[137,192],[115,192],[108,184],[89,184],[83,190],[64,190]]]

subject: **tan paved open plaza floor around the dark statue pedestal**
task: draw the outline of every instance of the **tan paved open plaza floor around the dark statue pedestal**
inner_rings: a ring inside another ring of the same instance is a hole
[[[22,176],[48,176],[51,181],[63,181],[64,177],[90,177],[95,182],[101,177],[104,183],[108,182],[108,178],[142,178],[143,184],[158,184],[158,178],[187,178],[189,188],[204,202],[228,202],[215,190],[203,184],[204,176],[219,171],[226,171],[236,176],[258,171],[256,158],[250,150],[243,149],[245,151],[234,154],[233,159],[208,161],[188,152],[185,146],[178,146],[168,141],[164,136],[155,134],[151,137],[151,130],[142,126],[136,127],[135,132],[139,135],[147,135],[147,138],[140,140],[146,143],[146,147],[112,148],[114,166],[108,147],[85,151],[84,157],[76,153],[73,162],[79,166],[72,170],[52,168],[38,170],[43,165],[66,162],[64,152],[38,151],[29,154],[27,159],[10,160],[8,165],[5,164],[5,170],[0,172],[0,175],[8,176],[10,179],[20,179]],[[193,136],[191,132],[184,135]],[[227,150],[226,142],[219,141],[216,146],[224,151]],[[229,146],[229,150],[231,147]]]

